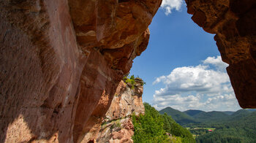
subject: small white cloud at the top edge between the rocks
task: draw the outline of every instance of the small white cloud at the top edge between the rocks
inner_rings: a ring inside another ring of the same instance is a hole
[[[165,9],[165,15],[169,15],[173,9],[180,10],[182,4],[183,0],[163,0],[161,8]]]

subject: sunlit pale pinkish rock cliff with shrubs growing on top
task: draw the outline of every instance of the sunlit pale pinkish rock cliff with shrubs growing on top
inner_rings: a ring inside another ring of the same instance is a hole
[[[95,142],[127,142],[131,143],[133,132],[132,114],[144,114],[142,101],[143,81],[135,79],[135,86],[121,81],[113,101],[105,115]]]

